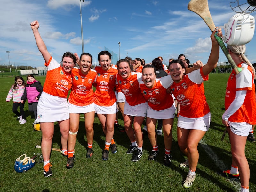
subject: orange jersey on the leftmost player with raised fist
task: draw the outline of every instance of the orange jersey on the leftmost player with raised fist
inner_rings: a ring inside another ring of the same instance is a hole
[[[53,96],[67,98],[68,91],[72,87],[71,74],[66,73],[60,64],[52,57],[48,63],[45,63],[44,65],[47,67],[48,71],[43,91]]]

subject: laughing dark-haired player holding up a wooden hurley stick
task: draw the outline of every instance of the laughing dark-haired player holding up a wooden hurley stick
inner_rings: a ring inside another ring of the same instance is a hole
[[[189,166],[187,178],[183,187],[189,188],[196,178],[196,166],[199,159],[197,146],[209,129],[211,113],[204,95],[203,82],[208,80],[208,74],[217,66],[219,45],[214,35],[221,36],[221,29],[212,32],[212,48],[207,64],[199,70],[185,75],[185,66],[181,60],[169,64],[170,75],[173,79],[172,93],[180,103],[180,115],[177,122],[177,137],[180,150],[188,157],[188,162],[180,167]],[[201,61],[197,61],[200,64]]]

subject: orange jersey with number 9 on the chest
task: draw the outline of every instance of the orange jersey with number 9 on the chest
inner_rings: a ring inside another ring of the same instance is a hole
[[[86,106],[93,103],[92,83],[96,82],[97,72],[90,69],[87,75],[81,73],[80,68],[71,71],[73,86],[68,102],[77,106]]]

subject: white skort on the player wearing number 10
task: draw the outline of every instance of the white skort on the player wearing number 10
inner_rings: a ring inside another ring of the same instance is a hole
[[[147,117],[152,119],[173,119],[175,117],[175,110],[174,102],[172,107],[160,111],[154,110],[148,106]]]

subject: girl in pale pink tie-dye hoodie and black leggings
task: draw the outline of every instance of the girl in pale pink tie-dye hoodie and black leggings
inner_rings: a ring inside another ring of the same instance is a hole
[[[14,83],[6,97],[6,102],[13,101],[12,112],[15,113],[19,120],[20,125],[26,123],[26,116],[24,112],[24,103],[21,102],[21,96],[24,93],[26,82],[20,76],[15,77]],[[20,113],[18,112],[18,107],[20,107]]]

